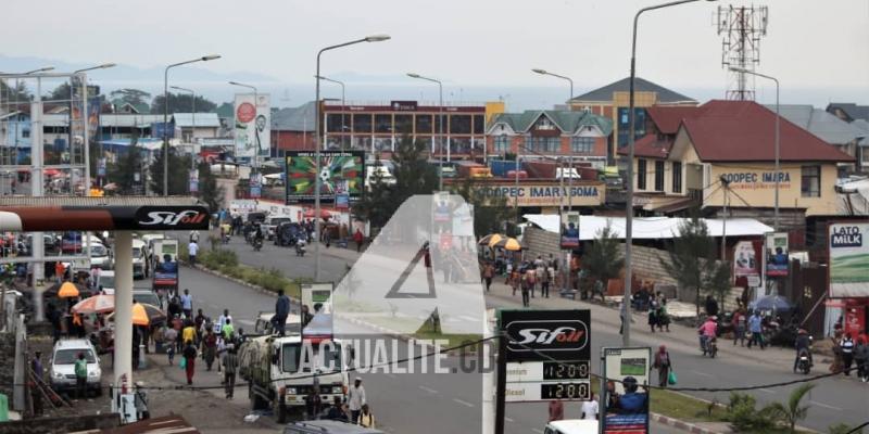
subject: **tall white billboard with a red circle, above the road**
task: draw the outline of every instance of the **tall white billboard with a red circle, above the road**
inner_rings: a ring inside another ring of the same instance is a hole
[[[255,97],[255,102],[254,102]],[[272,143],[272,100],[267,93],[237,93],[235,105],[236,158],[267,158]]]

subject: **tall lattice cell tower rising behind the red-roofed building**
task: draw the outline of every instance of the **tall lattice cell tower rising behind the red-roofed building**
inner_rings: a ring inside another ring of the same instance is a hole
[[[718,7],[716,25],[721,41],[721,66],[754,71],[760,63],[760,38],[767,35],[767,7]],[[745,73],[730,73],[728,100],[754,100],[754,84]]]

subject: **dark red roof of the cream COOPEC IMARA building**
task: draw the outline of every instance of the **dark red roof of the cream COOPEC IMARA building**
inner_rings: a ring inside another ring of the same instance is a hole
[[[776,113],[754,101],[714,100],[682,120],[704,162],[769,162],[776,155]],[[780,159],[785,162],[853,162],[803,128],[781,118]]]

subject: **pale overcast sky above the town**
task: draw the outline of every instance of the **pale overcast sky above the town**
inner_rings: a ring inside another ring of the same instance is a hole
[[[443,79],[448,99],[514,98],[524,108],[558,103],[567,93],[565,84],[531,74],[532,67],[572,77],[577,94],[626,77],[633,14],[659,1],[4,0],[12,14],[0,27],[0,71],[10,68],[3,60],[21,58],[116,62],[153,77],[119,68],[91,78],[109,88],[143,80],[141,87],[155,90],[166,64],[219,53],[223,59],[198,65],[209,72],[202,77],[219,81],[199,84],[204,93],[228,98],[224,77],[250,78],[285,101],[302,102],[313,98],[319,48],[382,33],[392,40],[324,55],[324,75],[347,80],[348,99],[436,99],[436,87],[404,77],[418,72]],[[869,1],[755,3],[769,7],[758,71],[781,80],[783,101],[869,103]],[[730,4],[751,5],[696,2],[643,15],[638,75],[700,100],[721,98],[729,80],[714,15]],[[198,85],[196,74],[178,77]],[[772,100],[766,82],[757,90],[759,101]]]

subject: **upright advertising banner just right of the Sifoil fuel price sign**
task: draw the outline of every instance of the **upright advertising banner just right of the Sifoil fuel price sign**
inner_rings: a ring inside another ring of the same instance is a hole
[[[648,433],[651,348],[603,348],[606,390],[603,433]],[[617,405],[610,405],[617,404]]]

